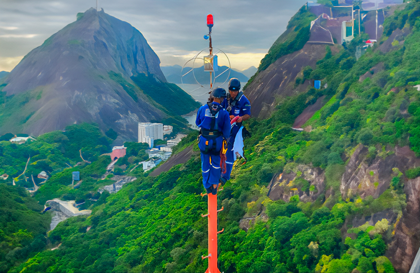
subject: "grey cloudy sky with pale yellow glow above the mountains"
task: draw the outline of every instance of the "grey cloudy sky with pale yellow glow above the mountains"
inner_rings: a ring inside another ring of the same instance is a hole
[[[11,71],[32,49],[96,0],[0,0],[0,71]],[[98,7],[129,22],[146,38],[161,66],[184,65],[209,46],[206,16],[214,17],[213,47],[233,68],[258,67],[291,16],[306,0],[98,0]]]

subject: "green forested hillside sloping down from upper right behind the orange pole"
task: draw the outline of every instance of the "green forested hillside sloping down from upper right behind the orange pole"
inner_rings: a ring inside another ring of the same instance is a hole
[[[405,34],[389,43],[394,31]],[[420,155],[420,92],[413,87],[420,84],[419,2],[397,10],[385,21],[384,33],[358,60],[363,36],[335,54],[328,46],[316,67],[303,71],[326,88],[288,97],[270,118],[248,122],[253,134],[245,141],[248,162],[236,165],[218,194],[224,207],[221,272],[393,273],[400,268],[390,261],[396,253],[387,249],[405,220],[405,190],[420,170],[412,163],[398,165],[393,156],[404,146],[406,154]],[[303,126],[308,132],[293,131],[294,119],[322,96],[324,107]],[[207,219],[200,215],[207,211],[207,198],[199,195],[204,189],[194,138],[187,138],[195,147],[191,160],[156,178],[139,168],[131,171],[140,152],[122,159],[121,172],[137,179],[115,194],[103,194],[92,204],[91,216],[58,224],[48,233],[46,248],[61,246],[39,251],[10,272],[204,272]],[[348,191],[343,173],[352,170],[362,148],[366,153],[360,153],[356,169],[371,182]],[[105,173],[101,157],[92,162]],[[384,162],[395,166],[389,175]],[[280,174],[284,180],[278,180]],[[280,185],[280,198],[270,198],[276,187],[271,181]],[[390,222],[385,215],[395,217]],[[378,220],[372,224],[367,219],[373,216]],[[418,232],[409,236],[416,239]]]

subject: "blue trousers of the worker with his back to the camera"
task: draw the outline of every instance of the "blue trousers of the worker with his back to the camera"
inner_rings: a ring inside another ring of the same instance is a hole
[[[201,174],[203,175],[204,188],[207,189],[213,184],[219,184],[221,173],[220,155],[201,153]]]

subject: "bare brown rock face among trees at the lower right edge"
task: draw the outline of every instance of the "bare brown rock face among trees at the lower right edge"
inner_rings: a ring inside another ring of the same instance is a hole
[[[407,169],[420,165],[408,146],[388,149],[369,164],[367,147],[357,146],[351,155],[341,179],[342,198],[360,195],[365,198],[369,195],[378,198],[390,187],[393,168],[405,172]],[[371,216],[353,219],[353,226],[360,226],[365,222],[374,225],[382,218],[395,224],[394,236],[388,246],[386,256],[392,261],[397,272],[408,272],[420,247],[420,177],[404,181],[407,206],[402,217],[391,210],[380,212]]]

